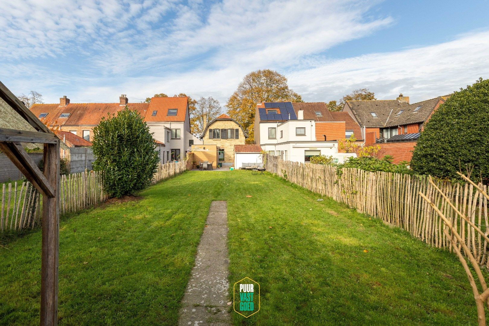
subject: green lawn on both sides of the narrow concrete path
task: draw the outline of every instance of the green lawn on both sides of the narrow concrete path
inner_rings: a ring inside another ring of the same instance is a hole
[[[188,172],[140,195],[61,222],[60,325],[175,325],[212,200],[228,204],[231,287],[260,283],[235,325],[476,325],[454,255],[278,177]],[[40,244],[0,247],[1,325],[38,323]]]

